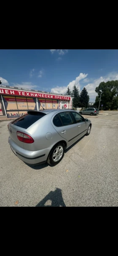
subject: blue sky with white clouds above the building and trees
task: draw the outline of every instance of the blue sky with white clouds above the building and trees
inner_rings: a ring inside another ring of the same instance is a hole
[[[66,93],[85,86],[94,102],[96,86],[118,79],[118,50],[0,50],[4,85]]]

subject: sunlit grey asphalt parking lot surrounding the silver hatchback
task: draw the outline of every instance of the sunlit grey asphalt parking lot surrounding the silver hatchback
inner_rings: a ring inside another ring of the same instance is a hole
[[[85,116],[92,122],[56,167],[30,167],[8,144],[0,122],[0,206],[118,206],[118,111]]]

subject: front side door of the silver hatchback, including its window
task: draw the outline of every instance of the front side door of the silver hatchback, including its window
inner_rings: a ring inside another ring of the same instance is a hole
[[[72,111],[71,115],[74,117],[75,123],[78,125],[78,138],[76,139],[76,140],[78,140],[84,134],[86,134],[88,127],[87,127],[86,121],[84,120],[83,116],[80,116],[79,113]]]

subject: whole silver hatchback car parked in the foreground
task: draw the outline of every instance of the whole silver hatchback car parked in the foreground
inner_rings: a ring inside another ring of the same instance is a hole
[[[64,150],[83,135],[91,121],[74,110],[29,110],[8,124],[8,142],[13,153],[28,164],[58,164]]]

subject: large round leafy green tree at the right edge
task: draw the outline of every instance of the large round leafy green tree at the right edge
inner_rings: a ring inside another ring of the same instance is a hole
[[[98,97],[100,98],[101,92],[99,92],[99,90],[102,90],[100,106],[101,104],[103,104],[103,107],[105,110],[108,110],[108,109],[112,110],[114,106],[115,108],[117,108],[116,97],[118,96],[118,80],[107,81],[106,83],[101,82],[99,86],[96,87],[95,89],[95,92],[98,93]]]

